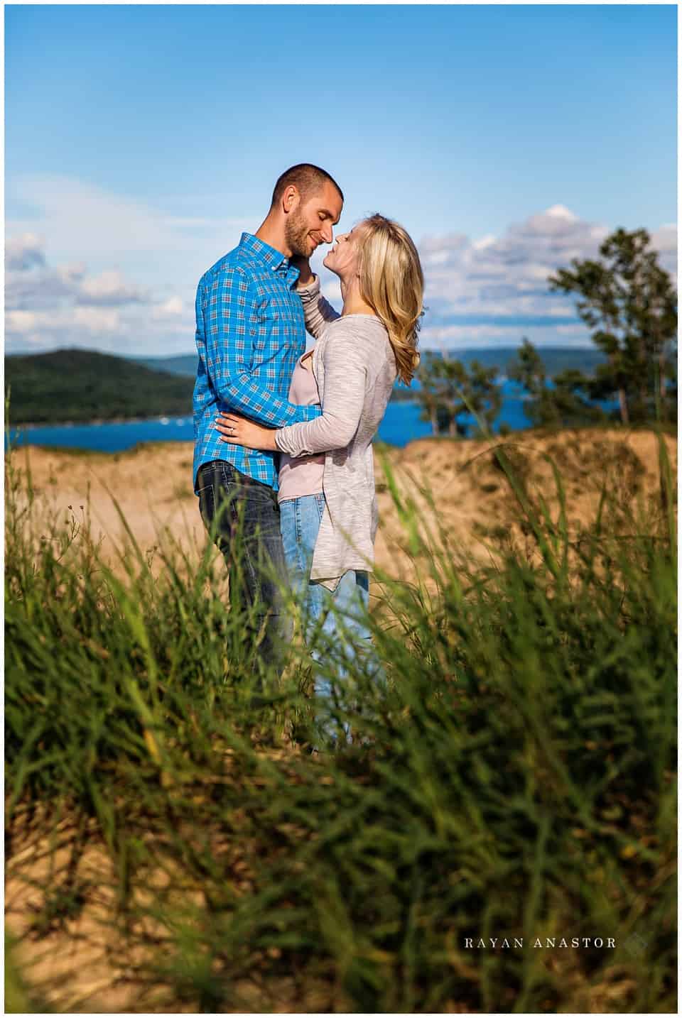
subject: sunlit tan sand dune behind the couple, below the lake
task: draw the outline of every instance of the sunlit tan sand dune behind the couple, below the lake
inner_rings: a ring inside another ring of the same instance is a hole
[[[676,470],[677,441],[666,437]],[[547,455],[554,459],[566,490],[569,529],[577,532],[596,512],[605,483],[622,506],[655,508],[659,495],[659,449],[652,432],[583,430],[541,436],[518,433],[506,443],[519,475],[531,492],[541,493],[553,517],[559,511],[557,486]],[[454,549],[487,557],[486,544],[509,535],[523,536],[520,513],[509,483],[495,465],[492,444],[484,441],[422,439],[405,449],[388,448],[386,462],[403,498],[413,499],[420,519],[432,530],[440,526]],[[166,443],[118,454],[78,454],[28,447],[12,461],[31,470],[36,493],[37,529],[49,520],[63,524],[90,516],[102,555],[115,563],[128,539],[120,512],[153,568],[160,568],[155,549],[178,542],[198,555],[205,531],[192,489],[192,445]],[[407,575],[410,565],[394,499],[375,453],[380,527],[376,563],[392,575]],[[429,506],[426,491],[433,504]]]

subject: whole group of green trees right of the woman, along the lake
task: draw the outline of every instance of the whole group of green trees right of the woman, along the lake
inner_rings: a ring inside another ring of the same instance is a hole
[[[568,360],[549,349],[540,357],[523,339],[507,374],[525,388],[524,412],[533,427],[602,422],[607,414],[598,403],[615,397],[619,409],[612,416],[623,423],[677,420],[677,293],[648,245],[645,230],[619,229],[600,245],[599,260],[574,259],[571,269],[549,277],[550,289],[576,295],[596,350],[579,351],[577,366],[575,351]],[[458,417],[469,410],[483,432],[489,430],[500,409],[494,379],[501,365],[490,365],[492,351],[485,353],[489,366],[471,357],[466,364],[424,357],[417,396],[434,435],[466,434]]]

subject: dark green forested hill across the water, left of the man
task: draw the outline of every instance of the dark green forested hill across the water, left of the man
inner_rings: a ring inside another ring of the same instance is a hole
[[[93,350],[5,357],[12,425],[192,413],[193,380]]]

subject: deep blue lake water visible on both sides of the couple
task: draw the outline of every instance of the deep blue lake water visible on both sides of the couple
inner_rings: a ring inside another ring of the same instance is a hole
[[[493,432],[502,423],[513,431],[528,428],[523,412],[523,400],[506,396]],[[420,420],[417,403],[389,403],[378,431],[378,438],[395,446],[405,446],[414,439],[431,434],[431,426]],[[122,452],[140,442],[193,442],[192,416],[155,417],[150,420],[124,420],[94,425],[59,425],[57,427],[12,429],[12,445],[64,446],[71,449],[92,449],[98,452]]]

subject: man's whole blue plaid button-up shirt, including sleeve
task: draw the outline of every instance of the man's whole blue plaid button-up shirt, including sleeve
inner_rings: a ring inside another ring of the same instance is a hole
[[[202,463],[226,459],[277,488],[278,453],[222,442],[215,418],[241,413],[271,428],[313,420],[319,406],[287,400],[296,361],[306,349],[299,270],[250,233],[204,273],[197,289],[199,369],[194,388],[194,484]]]

